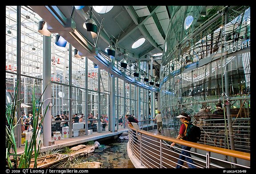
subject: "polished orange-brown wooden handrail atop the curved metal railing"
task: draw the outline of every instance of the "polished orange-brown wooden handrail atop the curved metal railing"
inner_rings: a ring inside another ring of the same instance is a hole
[[[228,156],[231,156],[231,157],[235,157],[235,158],[239,158],[239,159],[245,159],[245,160],[248,160],[248,161],[251,160],[250,153],[241,152],[241,151],[234,151],[234,150],[224,149],[224,148],[220,148],[220,147],[213,147],[213,146],[200,144],[200,143],[193,143],[193,142],[189,142],[189,141],[185,141],[185,140],[180,140],[180,139],[176,139],[176,138],[172,138],[172,137],[167,137],[167,136],[164,136],[164,135],[155,135],[155,134],[153,134],[151,132],[148,132],[148,131],[137,130],[132,126],[132,124],[128,124],[128,127],[130,129],[134,130],[134,131],[140,132],[141,134],[148,135],[148,136],[151,136],[151,137],[155,137],[157,139],[161,139],[161,140],[165,140],[165,141],[169,141],[169,142],[174,142],[174,143],[182,144],[182,145],[189,146],[189,147],[194,147],[196,149],[201,149],[201,150],[204,150],[204,151],[218,153],[218,154],[221,154],[221,155],[228,155]]]

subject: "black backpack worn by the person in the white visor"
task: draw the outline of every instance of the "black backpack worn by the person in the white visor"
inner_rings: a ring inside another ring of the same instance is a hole
[[[186,141],[191,141],[194,143],[198,142],[201,136],[201,129],[192,123],[187,123],[187,122],[184,122],[184,123],[188,124],[188,127],[187,127],[187,133],[182,139]]]

